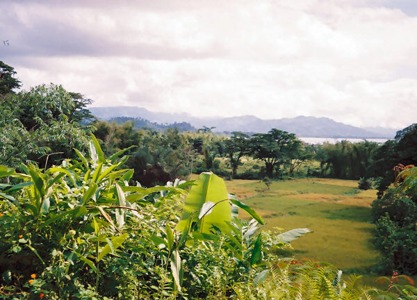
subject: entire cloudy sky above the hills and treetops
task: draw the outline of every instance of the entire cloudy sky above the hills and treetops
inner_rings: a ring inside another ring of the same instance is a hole
[[[199,117],[417,122],[416,0],[0,0],[0,12],[0,60],[25,90]]]

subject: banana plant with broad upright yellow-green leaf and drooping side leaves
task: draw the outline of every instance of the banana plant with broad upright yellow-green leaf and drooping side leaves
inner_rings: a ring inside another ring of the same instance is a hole
[[[252,217],[250,222],[238,218],[238,209]],[[228,194],[222,180],[213,173],[202,173],[188,193],[183,206],[181,220],[176,230],[181,233],[179,247],[191,240],[218,242],[232,254],[236,267],[248,272],[251,268],[263,266],[263,242],[261,227],[263,219],[235,194]],[[288,244],[301,235],[311,232],[308,228],[297,228],[277,235],[279,244]],[[190,244],[190,243],[189,243]],[[256,276],[260,281],[266,278],[268,269]],[[260,278],[261,277],[261,278]]]

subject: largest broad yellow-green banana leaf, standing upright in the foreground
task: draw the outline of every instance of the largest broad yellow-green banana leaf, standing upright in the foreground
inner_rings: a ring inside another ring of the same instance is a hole
[[[228,199],[227,188],[222,178],[208,172],[200,174],[188,194],[177,230],[184,231],[188,224],[199,222],[202,233],[210,233],[213,226],[222,231],[230,231],[226,224],[231,220]],[[200,211],[206,202],[212,202],[214,206],[210,213],[203,214],[204,217],[202,217]],[[199,215],[202,217],[201,220],[199,220]],[[190,218],[191,222],[189,222]]]

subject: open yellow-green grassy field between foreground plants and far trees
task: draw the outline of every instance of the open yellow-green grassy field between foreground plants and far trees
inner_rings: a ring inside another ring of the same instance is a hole
[[[357,181],[305,178],[273,181],[226,181],[229,192],[254,208],[267,222],[265,230],[310,228],[292,242],[288,255],[325,261],[344,272],[368,274],[379,253],[372,244],[370,203],[375,190],[357,189]]]

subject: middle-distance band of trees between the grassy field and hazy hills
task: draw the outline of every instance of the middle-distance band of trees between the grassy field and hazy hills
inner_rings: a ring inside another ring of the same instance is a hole
[[[129,167],[140,169],[136,180],[149,185],[190,173],[213,171],[224,178],[261,179],[319,176],[359,179],[378,149],[375,142],[304,144],[293,133],[272,128],[249,136],[217,135],[204,126],[195,132],[136,130],[133,122],[97,122],[96,137],[111,155],[130,150]],[[151,176],[152,175],[152,176]]]

